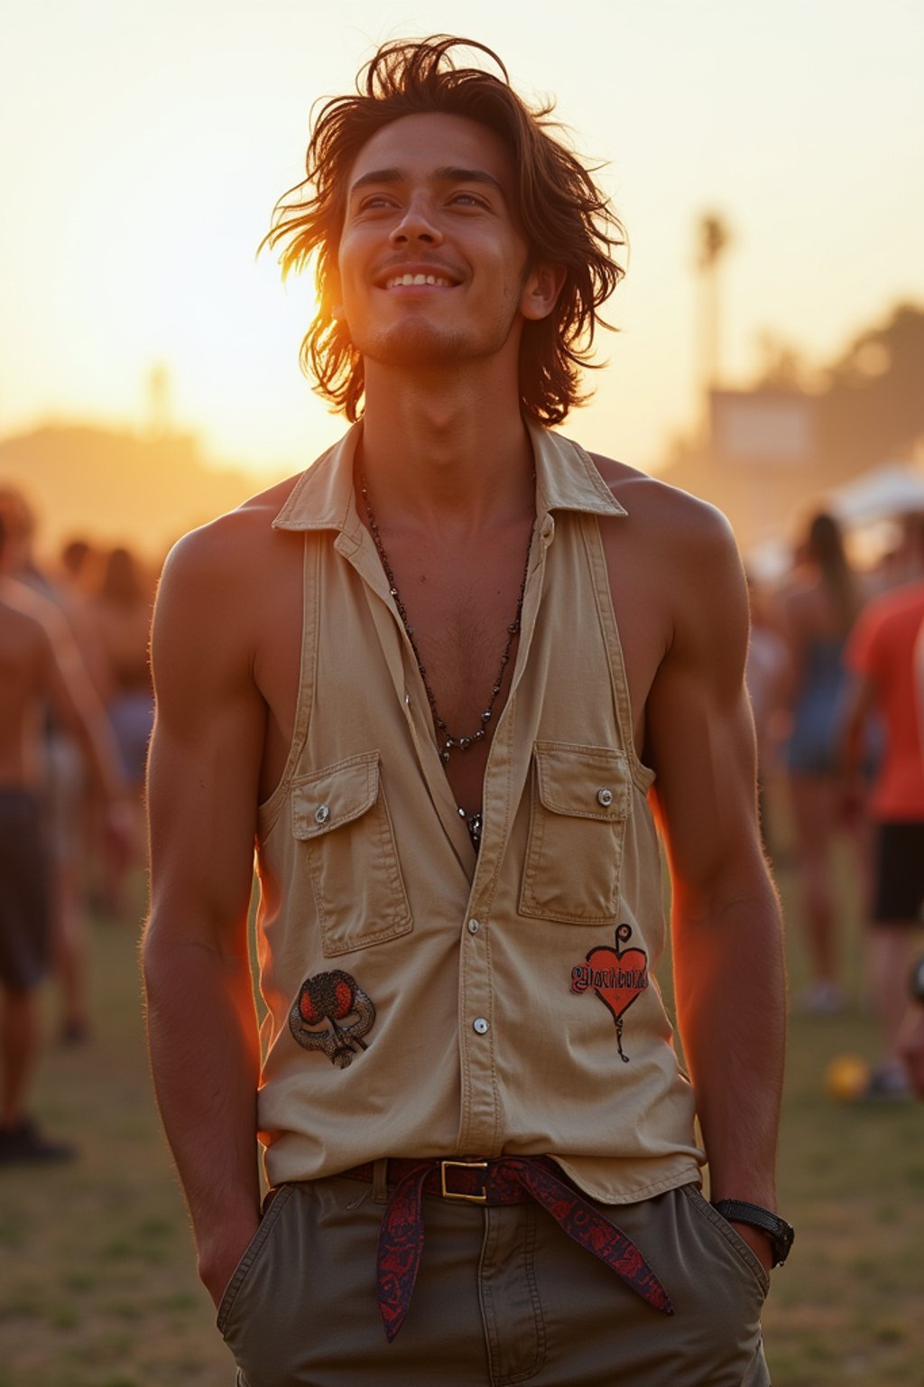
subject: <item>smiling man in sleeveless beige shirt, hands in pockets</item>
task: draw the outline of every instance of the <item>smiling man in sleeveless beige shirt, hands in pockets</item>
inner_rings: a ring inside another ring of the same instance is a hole
[[[328,103],[270,236],[317,255],[303,356],[359,422],[165,571],[158,1097],[241,1384],[766,1383],[784,983],[741,569],[712,509],[546,427],[619,229],[459,44]]]

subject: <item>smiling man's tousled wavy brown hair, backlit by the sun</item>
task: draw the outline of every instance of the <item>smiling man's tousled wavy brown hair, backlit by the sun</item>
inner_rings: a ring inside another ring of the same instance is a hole
[[[457,65],[457,49],[486,54],[500,76]],[[592,365],[594,330],[610,326],[598,309],[623,275],[614,258],[625,245],[623,227],[593,180],[596,171],[553,136],[553,130],[561,136],[549,119],[554,105],[526,105],[497,54],[471,39],[436,35],[387,43],[360,71],[356,92],[321,105],[308,146],[306,178],[278,200],[260,243],[260,248],[281,247],[283,277],[313,262],[319,311],[302,340],[302,370],[335,409],[350,422],[359,417],[363,358],[346,326],[331,313],[349,169],[366,141],[391,121],[428,112],[461,115],[493,130],[507,150],[531,264],[554,264],[565,272],[556,308],[540,322],[524,323],[519,347],[524,412],[544,424],[561,423],[587,398],[580,370]]]

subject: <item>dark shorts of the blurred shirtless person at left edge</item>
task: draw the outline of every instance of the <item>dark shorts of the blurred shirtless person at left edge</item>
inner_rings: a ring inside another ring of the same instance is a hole
[[[0,789],[0,983],[29,992],[48,968],[51,881],[33,795]]]

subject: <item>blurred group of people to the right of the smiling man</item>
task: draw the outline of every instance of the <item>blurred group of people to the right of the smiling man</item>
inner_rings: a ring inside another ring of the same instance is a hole
[[[794,1010],[873,1007],[881,1053],[858,1094],[869,1100],[924,1089],[924,1007],[909,1004],[924,922],[924,516],[895,534],[860,569],[835,517],[812,516],[785,574],[751,581],[747,670],[765,843],[791,856],[798,882],[808,982]],[[845,988],[845,863],[866,927],[859,999]]]

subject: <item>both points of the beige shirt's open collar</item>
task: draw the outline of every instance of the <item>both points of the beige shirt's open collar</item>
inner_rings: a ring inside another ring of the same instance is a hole
[[[536,517],[553,510],[625,516],[626,510],[594,467],[589,454],[564,434],[526,423],[536,467]],[[274,530],[338,530],[359,524],[353,498],[353,456],[362,422],[312,463],[292,487],[273,520]]]

